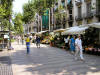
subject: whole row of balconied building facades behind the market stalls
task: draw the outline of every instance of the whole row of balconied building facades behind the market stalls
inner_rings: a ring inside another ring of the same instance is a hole
[[[58,0],[48,12],[49,25],[36,13],[29,32],[53,31],[100,22],[100,0]],[[44,23],[43,23],[44,22]],[[46,27],[46,28],[45,28]]]

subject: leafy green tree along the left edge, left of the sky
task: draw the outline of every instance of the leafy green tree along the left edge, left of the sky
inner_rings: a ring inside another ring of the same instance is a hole
[[[12,2],[13,0],[0,0],[0,22],[4,28],[3,30],[9,28],[9,17],[12,14]]]

